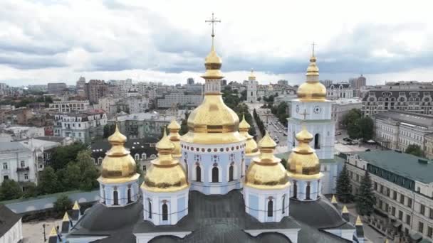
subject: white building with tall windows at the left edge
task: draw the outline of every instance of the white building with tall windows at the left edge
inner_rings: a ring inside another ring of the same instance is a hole
[[[19,142],[0,143],[0,163],[0,183],[7,179],[19,183],[38,182],[35,153]],[[23,190],[26,190],[25,185]]]

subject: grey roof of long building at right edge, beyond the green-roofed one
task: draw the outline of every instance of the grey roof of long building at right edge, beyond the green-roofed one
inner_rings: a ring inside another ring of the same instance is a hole
[[[417,114],[412,112],[402,112],[402,111],[390,111],[390,112],[380,112],[375,114],[374,117],[380,119],[392,119],[395,121],[400,121],[405,124],[412,124],[416,126],[422,126],[425,128],[433,127],[433,116],[427,114]]]

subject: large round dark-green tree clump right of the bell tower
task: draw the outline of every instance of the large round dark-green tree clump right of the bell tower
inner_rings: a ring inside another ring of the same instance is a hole
[[[351,109],[342,122],[350,139],[368,141],[373,138],[374,123],[370,117],[362,117],[360,109]]]

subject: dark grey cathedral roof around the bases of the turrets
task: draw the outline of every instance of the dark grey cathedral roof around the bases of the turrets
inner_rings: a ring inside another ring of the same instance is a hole
[[[152,243],[169,242],[291,242],[283,234],[267,232],[252,237],[246,233],[254,229],[301,229],[298,242],[348,242],[323,232],[327,228],[347,228],[348,225],[335,208],[318,200],[297,202],[291,200],[291,217],[281,222],[261,223],[245,212],[244,200],[239,190],[226,195],[204,195],[189,192],[189,213],[177,225],[155,226],[142,220],[142,203],[125,207],[105,207],[100,203],[85,212],[68,237],[108,236],[95,242],[135,242],[134,233],[192,232],[183,239],[160,236]],[[300,211],[300,212],[297,212]]]

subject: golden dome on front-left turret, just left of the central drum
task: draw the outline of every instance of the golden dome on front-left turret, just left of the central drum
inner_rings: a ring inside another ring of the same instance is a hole
[[[188,188],[187,174],[179,161],[173,158],[174,144],[169,140],[165,130],[156,148],[158,158],[151,161],[145,181],[141,185],[142,189],[152,192],[173,192]]]

